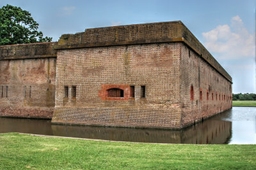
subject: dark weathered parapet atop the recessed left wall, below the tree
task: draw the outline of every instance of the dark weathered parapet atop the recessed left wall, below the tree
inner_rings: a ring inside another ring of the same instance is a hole
[[[56,57],[56,42],[0,46],[0,60]]]

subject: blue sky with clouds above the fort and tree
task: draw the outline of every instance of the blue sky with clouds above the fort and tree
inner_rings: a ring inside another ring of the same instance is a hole
[[[44,36],[58,41],[93,27],[181,20],[233,78],[234,93],[256,93],[256,1],[1,0],[31,13]]]

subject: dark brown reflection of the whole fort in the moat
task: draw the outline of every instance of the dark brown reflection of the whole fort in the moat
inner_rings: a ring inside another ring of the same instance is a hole
[[[24,132],[76,138],[144,143],[224,144],[231,138],[232,122],[208,119],[181,131],[51,125],[49,120],[0,118],[0,132]]]

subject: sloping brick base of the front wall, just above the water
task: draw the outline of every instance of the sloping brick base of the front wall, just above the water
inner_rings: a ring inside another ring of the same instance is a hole
[[[56,107],[52,122],[180,129],[179,113],[179,108]]]

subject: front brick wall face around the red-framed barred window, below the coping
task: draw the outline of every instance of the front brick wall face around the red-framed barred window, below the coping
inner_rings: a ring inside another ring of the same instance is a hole
[[[52,122],[180,128],[181,45],[59,50]],[[102,100],[99,91],[109,84],[134,85],[134,99]],[[145,98],[141,98],[141,85],[146,87]],[[69,87],[68,99],[65,86]],[[72,86],[77,89],[75,99]]]

